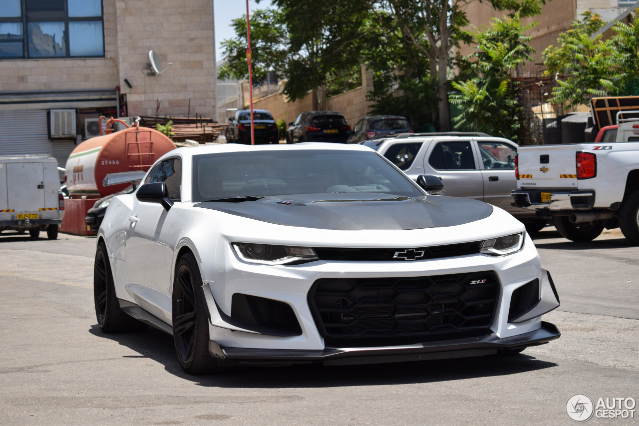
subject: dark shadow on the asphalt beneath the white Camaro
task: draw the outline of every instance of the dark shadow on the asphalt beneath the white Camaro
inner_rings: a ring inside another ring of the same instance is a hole
[[[325,367],[318,364],[284,367],[242,367],[211,375],[183,372],[176,358],[173,338],[150,328],[139,333],[105,334],[97,325],[89,333],[126,346],[139,355],[123,358],[150,358],[164,365],[166,372],[213,388],[335,388],[341,386],[438,383],[476,377],[512,375],[557,367],[556,363],[537,359],[523,352],[508,356],[412,361],[404,363]]]

